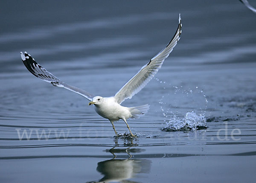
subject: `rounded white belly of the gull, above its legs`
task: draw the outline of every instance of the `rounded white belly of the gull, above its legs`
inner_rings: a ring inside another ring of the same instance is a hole
[[[128,107],[123,107],[121,105],[95,106],[95,111],[100,116],[111,121],[117,121],[122,118],[128,119],[131,117],[131,112],[128,110]]]

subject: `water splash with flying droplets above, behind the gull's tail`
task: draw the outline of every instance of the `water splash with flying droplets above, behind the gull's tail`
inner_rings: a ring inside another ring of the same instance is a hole
[[[166,83],[160,81],[158,78],[155,79],[159,81],[160,84]],[[166,88],[166,84],[164,85],[164,88]],[[185,87],[183,86],[174,86],[173,90],[174,94],[176,95],[176,101],[171,99],[171,96],[173,95],[170,95],[170,93],[167,93],[167,97],[162,96],[158,100],[158,103],[160,104],[161,113],[164,116],[163,121],[166,122],[166,126],[162,128],[162,130],[195,131],[206,129],[207,119],[205,117],[205,112],[207,109],[208,99],[207,96],[204,94],[204,90],[199,89],[198,86],[195,86],[195,89],[185,89]],[[202,97],[205,102],[204,107],[201,107],[203,102]],[[189,108],[189,111],[186,110]],[[173,112],[173,110],[175,110],[175,112]]]

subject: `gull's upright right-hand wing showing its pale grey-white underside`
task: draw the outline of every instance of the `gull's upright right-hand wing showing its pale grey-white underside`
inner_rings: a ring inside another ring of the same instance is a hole
[[[125,99],[131,99],[136,93],[138,93],[145,85],[154,77],[157,71],[161,68],[164,59],[166,59],[172,52],[172,49],[176,46],[177,41],[180,39],[181,34],[181,19],[179,17],[179,25],[175,35],[169,44],[161,52],[159,52],[154,58],[152,58],[146,65],[144,65],[140,71],[134,75],[114,96],[116,102],[121,104]]]

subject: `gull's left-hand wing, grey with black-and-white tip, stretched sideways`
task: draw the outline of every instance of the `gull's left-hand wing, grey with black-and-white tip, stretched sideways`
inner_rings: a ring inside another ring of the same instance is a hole
[[[70,86],[60,79],[53,76],[51,73],[49,73],[47,70],[45,70],[41,65],[39,65],[34,58],[31,57],[31,55],[27,54],[25,52],[25,55],[23,55],[23,52],[20,52],[21,59],[26,66],[26,68],[29,70],[30,73],[32,73],[34,76],[47,81],[51,83],[55,87],[63,87],[67,90],[73,91],[75,93],[78,93],[79,95],[85,97],[86,99],[92,101],[93,95],[88,93],[87,91],[81,90],[77,87]]]

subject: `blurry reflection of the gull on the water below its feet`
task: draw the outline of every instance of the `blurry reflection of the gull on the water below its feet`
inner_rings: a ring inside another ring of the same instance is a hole
[[[148,174],[150,172],[151,161],[143,159],[131,159],[132,154],[145,151],[140,148],[116,148],[106,149],[106,152],[113,154],[111,160],[101,161],[98,163],[97,171],[103,174],[104,177],[99,181],[90,183],[108,183],[108,182],[121,182],[121,183],[136,183],[129,181],[137,174]],[[116,154],[122,153],[122,159],[117,159]],[[128,155],[128,158],[127,158]],[[126,157],[126,158],[125,158]]]

